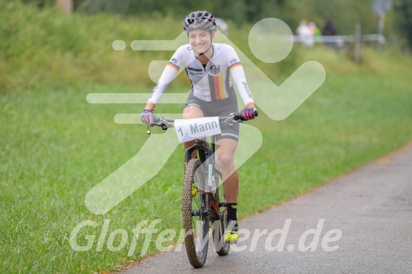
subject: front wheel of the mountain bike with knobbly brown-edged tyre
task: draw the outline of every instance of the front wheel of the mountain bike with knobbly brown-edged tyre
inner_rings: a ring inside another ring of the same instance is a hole
[[[208,252],[209,218],[205,214],[203,189],[206,174],[199,168],[201,162],[197,159],[189,160],[184,172],[182,216],[185,232],[184,244],[187,257],[194,268],[204,266]],[[197,184],[199,191],[192,196],[193,184]]]

